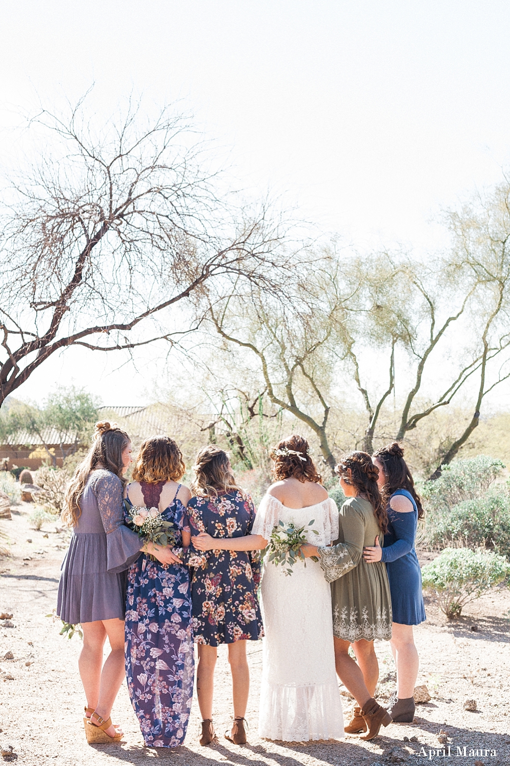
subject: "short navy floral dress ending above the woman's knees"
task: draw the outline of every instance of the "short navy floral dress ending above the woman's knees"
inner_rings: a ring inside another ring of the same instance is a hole
[[[191,535],[211,537],[250,535],[255,509],[249,495],[233,490],[213,497],[192,497],[188,502]],[[193,543],[193,537],[191,537]],[[196,643],[220,643],[263,637],[257,600],[260,582],[258,551],[193,551],[190,566],[193,632]]]

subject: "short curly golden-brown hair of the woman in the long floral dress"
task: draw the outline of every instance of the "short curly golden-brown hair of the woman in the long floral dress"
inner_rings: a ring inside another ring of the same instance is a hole
[[[186,470],[182,453],[169,436],[153,436],[145,439],[138,450],[133,481],[155,484],[159,481],[179,481]]]

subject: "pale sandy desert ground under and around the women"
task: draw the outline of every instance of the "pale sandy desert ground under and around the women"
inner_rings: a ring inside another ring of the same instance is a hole
[[[510,764],[510,594],[505,589],[469,605],[453,623],[447,622],[435,604],[427,604],[427,623],[416,630],[421,658],[418,683],[427,684],[432,699],[417,705],[413,724],[390,725],[374,741],[364,742],[356,735],[346,736],[345,741],[310,744],[260,739],[261,645],[250,643],[247,745],[236,747],[223,737],[230,724],[230,674],[224,651],[220,651],[217,666],[216,745],[198,745],[200,714],[195,700],[184,745],[173,750],[145,748],[125,684],[113,716],[123,726],[124,741],[87,745],[77,672],[80,638],[60,637],[58,621],[46,617],[55,605],[67,532],[57,532],[54,525],[39,532],[31,529],[30,512],[31,506],[23,503],[15,507],[11,521],[0,522],[14,543],[11,556],[0,558],[0,612],[12,613],[15,626],[0,627],[0,745],[3,749],[8,743],[13,746],[18,757],[12,762],[20,766],[117,766],[145,764],[156,758],[176,766]],[[393,689],[394,666],[389,644],[378,642],[376,649],[382,702]],[[13,659],[5,659],[8,653]],[[341,687],[341,691],[344,709],[349,712],[352,701],[345,689]],[[476,699],[476,712],[463,709],[466,699]],[[438,739],[440,732],[446,733],[446,755]],[[469,755],[469,751],[477,752]]]

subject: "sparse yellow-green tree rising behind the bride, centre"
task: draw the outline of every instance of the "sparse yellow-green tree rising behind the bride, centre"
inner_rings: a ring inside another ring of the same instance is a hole
[[[343,336],[346,296],[338,263],[328,254],[301,263],[280,300],[262,290],[236,290],[211,303],[209,319],[221,339],[255,362],[276,408],[306,424],[334,475],[329,444],[329,394]]]

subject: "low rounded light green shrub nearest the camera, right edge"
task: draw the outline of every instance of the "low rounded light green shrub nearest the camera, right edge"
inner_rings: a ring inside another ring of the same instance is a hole
[[[422,578],[423,588],[435,592],[441,611],[453,620],[469,601],[510,578],[510,564],[489,551],[445,548],[423,567]]]

